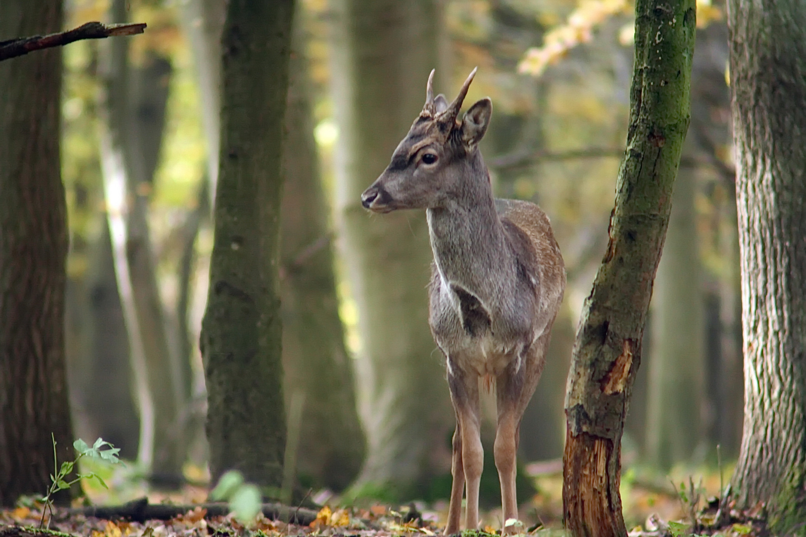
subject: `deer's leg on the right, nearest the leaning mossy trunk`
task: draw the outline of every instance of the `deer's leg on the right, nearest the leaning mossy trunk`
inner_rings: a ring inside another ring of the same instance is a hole
[[[498,423],[494,455],[498,479],[501,481],[501,507],[504,521],[517,520],[517,498],[515,494],[515,474],[517,472],[517,446],[520,440],[521,418],[526,405],[532,399],[538,386],[540,374],[546,359],[548,334],[535,341],[526,351],[520,370],[514,370],[514,363],[496,379],[496,403]],[[515,526],[505,527],[502,533],[523,531]]]

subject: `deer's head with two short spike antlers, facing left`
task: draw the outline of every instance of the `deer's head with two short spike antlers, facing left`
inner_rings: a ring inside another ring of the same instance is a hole
[[[365,209],[389,213],[396,209],[438,209],[456,199],[468,181],[479,180],[469,173],[478,143],[490,122],[492,101],[485,97],[456,121],[467,88],[476,69],[467,76],[451,104],[445,96],[434,97],[431,71],[426,85],[426,104],[414,120],[409,134],[398,144],[392,162],[361,195]],[[482,166],[483,167],[483,166]],[[481,174],[487,180],[486,170]]]

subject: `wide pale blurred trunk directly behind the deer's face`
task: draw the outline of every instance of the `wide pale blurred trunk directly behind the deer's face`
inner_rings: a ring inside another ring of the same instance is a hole
[[[422,109],[431,68],[449,94],[450,77],[438,68],[438,2],[338,0],[333,9],[336,217],[358,309],[355,366],[367,433],[354,492],[401,497],[425,485],[435,466],[450,465],[453,412],[428,328],[428,228],[422,213],[370,218],[360,197]]]

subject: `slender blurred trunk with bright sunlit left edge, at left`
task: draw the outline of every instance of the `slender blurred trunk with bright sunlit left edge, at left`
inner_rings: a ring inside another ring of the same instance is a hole
[[[112,3],[110,17],[115,23],[126,22],[125,0]],[[127,41],[114,39],[107,44],[103,175],[139,401],[138,460],[154,475],[175,482],[185,461],[179,423],[182,382],[176,357],[168,349],[147,219],[148,194],[162,144],[168,97],[165,77],[170,65],[151,55],[143,68],[131,69]]]

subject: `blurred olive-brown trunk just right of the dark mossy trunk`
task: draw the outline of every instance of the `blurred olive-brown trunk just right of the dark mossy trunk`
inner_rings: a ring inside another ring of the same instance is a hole
[[[345,488],[364,460],[352,364],[344,348],[333,274],[330,208],[319,176],[301,10],[294,22],[283,150],[282,246],[285,396],[304,394],[297,453],[301,481]],[[302,395],[300,395],[301,397]],[[292,469],[293,470],[293,469]]]

